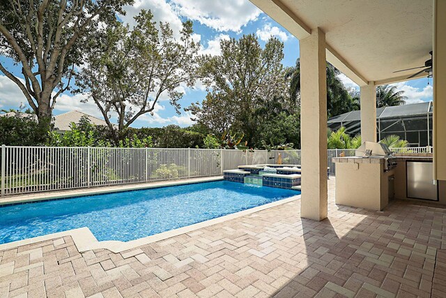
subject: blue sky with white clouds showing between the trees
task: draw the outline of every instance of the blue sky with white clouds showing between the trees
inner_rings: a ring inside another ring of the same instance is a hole
[[[219,53],[219,40],[224,38],[240,38],[243,34],[253,33],[259,38],[263,46],[270,36],[276,36],[284,42],[285,66],[293,66],[299,57],[299,41],[291,36],[283,27],[272,20],[268,15],[261,13],[249,0],[137,0],[133,6],[125,8],[127,15],[121,17],[124,22],[132,23],[132,17],[137,15],[141,8],[152,10],[155,20],[169,22],[172,29],[178,32],[181,22],[190,19],[194,22],[194,38],[200,40],[201,52],[206,54]],[[0,57],[2,64],[12,70],[20,77],[20,68],[14,66],[12,61]],[[340,76],[348,88],[357,88],[345,75]],[[405,91],[408,103],[417,103],[432,99],[431,85],[427,79],[412,80],[398,83],[399,89]],[[173,107],[169,105],[167,96],[163,98],[155,114],[146,114],[132,126],[161,127],[169,124],[189,126],[192,124],[190,114],[183,111],[192,102],[201,101],[206,96],[203,86],[197,82],[193,89],[183,88],[185,94],[180,100],[182,114],[176,114]],[[85,96],[63,94],[60,96],[54,114],[61,114],[70,110],[79,110],[96,117],[102,118],[94,103],[81,103]],[[26,103],[20,89],[13,82],[0,73],[0,109],[17,108],[20,103]]]

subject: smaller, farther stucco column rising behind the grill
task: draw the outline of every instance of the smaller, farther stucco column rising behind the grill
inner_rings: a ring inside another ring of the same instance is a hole
[[[361,140],[376,142],[376,87],[361,86]]]

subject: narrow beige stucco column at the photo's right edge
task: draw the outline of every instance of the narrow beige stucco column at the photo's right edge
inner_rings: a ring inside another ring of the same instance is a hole
[[[433,1],[433,179],[446,180],[446,1]]]

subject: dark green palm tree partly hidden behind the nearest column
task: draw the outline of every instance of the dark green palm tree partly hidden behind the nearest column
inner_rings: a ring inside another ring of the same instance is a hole
[[[328,117],[358,110],[357,105],[353,102],[352,96],[348,93],[342,81],[339,80],[339,70],[329,63],[327,63],[326,69]],[[300,59],[296,61],[294,67],[288,69],[285,77],[287,80],[290,80],[291,100],[300,106]]]

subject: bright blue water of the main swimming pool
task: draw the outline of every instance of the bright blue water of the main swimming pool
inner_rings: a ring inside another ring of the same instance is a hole
[[[0,208],[0,244],[82,227],[99,241],[130,241],[298,194],[214,181],[8,206]]]

